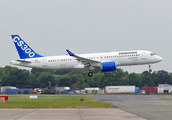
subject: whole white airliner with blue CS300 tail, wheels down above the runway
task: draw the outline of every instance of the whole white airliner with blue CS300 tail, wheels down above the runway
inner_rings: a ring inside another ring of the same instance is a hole
[[[68,49],[68,55],[44,57],[37,54],[29,47],[19,35],[11,35],[16,46],[19,60],[12,60],[10,64],[31,68],[65,70],[65,69],[87,69],[88,76],[93,75],[92,70],[102,72],[114,71],[118,66],[150,65],[162,61],[162,57],[145,50],[131,50],[119,52],[105,52],[94,54],[74,54]]]

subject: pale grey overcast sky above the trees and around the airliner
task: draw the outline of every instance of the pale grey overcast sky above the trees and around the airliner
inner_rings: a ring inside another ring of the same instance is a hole
[[[44,56],[149,50],[172,72],[172,0],[0,0],[0,67],[19,59],[9,35]],[[23,68],[22,68],[23,69]],[[141,73],[147,65],[122,67]]]

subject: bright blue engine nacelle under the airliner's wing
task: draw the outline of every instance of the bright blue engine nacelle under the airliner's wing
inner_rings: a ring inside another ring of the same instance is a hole
[[[116,70],[115,61],[102,63],[102,72],[108,72],[108,71],[114,71],[114,70]]]

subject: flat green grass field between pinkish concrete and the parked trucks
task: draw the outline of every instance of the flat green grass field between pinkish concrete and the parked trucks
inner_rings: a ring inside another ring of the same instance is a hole
[[[9,100],[0,103],[0,108],[98,108],[113,105],[96,101],[91,95],[38,95],[37,99],[30,95],[9,95]],[[84,101],[80,101],[84,99]]]

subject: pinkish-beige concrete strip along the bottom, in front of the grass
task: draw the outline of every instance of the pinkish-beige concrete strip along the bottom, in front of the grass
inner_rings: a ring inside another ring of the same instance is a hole
[[[0,120],[145,120],[116,108],[0,109]]]

